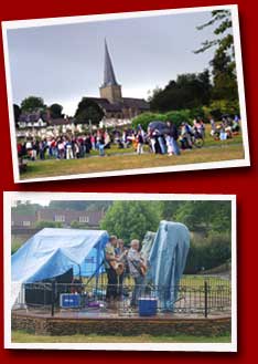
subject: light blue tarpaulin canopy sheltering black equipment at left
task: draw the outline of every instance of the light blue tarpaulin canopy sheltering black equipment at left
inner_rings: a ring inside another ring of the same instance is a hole
[[[32,283],[61,275],[71,268],[74,275],[90,277],[96,270],[100,273],[108,239],[104,230],[45,228],[12,256],[12,282]]]

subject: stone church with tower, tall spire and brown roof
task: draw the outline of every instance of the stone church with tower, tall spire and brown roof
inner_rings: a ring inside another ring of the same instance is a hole
[[[117,119],[131,119],[150,110],[144,98],[122,97],[121,85],[118,84],[111,58],[105,40],[104,83],[99,87],[100,97],[85,97],[95,102],[104,112],[105,117]]]

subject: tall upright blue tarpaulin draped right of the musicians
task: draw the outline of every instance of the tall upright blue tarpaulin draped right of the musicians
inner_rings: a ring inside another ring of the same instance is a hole
[[[183,223],[160,222],[148,263],[151,280],[158,289],[157,294],[164,311],[173,311],[189,248],[190,232]]]

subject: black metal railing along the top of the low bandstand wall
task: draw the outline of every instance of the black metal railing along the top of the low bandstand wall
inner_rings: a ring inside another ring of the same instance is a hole
[[[111,288],[111,290],[110,290]],[[111,294],[109,294],[111,292]],[[142,284],[135,285],[131,280],[122,284],[107,282],[25,283],[20,288],[13,310],[26,309],[34,312],[47,312],[51,315],[67,312],[96,314],[144,315],[144,308],[153,306],[154,314],[202,314],[229,312],[232,288],[229,280],[182,279],[172,287]],[[147,314],[148,315],[148,314]]]

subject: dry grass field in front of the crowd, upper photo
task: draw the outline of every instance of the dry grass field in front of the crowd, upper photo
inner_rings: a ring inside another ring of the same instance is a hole
[[[241,135],[228,141],[214,141],[206,131],[204,147],[201,149],[183,150],[180,156],[153,155],[146,146],[143,155],[136,155],[132,148],[119,149],[112,145],[106,150],[105,157],[97,152],[83,159],[46,159],[28,162],[28,170],[21,174],[21,179],[68,176],[77,174],[101,173],[122,169],[137,169],[163,166],[178,166],[207,162],[243,159],[244,148]]]

